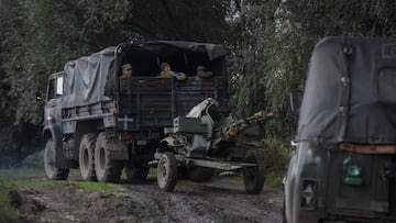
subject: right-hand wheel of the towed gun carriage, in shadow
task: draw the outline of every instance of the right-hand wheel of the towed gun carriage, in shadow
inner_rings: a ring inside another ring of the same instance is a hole
[[[243,169],[243,182],[248,193],[258,194],[265,181],[264,155],[258,150],[249,153],[246,163],[256,164],[256,167],[246,167]]]

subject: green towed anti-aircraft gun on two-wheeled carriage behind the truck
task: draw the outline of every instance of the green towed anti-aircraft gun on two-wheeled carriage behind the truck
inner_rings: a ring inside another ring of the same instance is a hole
[[[235,121],[208,98],[186,116],[176,118],[151,163],[157,165],[160,189],[173,191],[184,174],[193,181],[210,180],[217,169],[242,171],[246,192],[260,193],[266,167],[264,124],[272,116],[261,111]]]

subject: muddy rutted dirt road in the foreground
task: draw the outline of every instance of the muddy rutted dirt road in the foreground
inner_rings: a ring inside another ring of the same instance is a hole
[[[73,181],[18,191],[28,222],[280,222],[283,193],[265,187],[246,194],[239,178],[178,181],[162,192],[155,179],[122,182],[120,192],[85,192]]]

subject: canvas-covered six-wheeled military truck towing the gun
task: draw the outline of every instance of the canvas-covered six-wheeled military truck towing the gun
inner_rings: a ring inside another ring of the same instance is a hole
[[[161,63],[186,74],[161,78]],[[130,64],[133,75],[119,78]],[[212,77],[195,78],[204,65]],[[68,62],[48,78],[44,109],[45,172],[66,179],[79,167],[84,180],[145,179],[147,163],[174,118],[211,97],[227,110],[226,52],[221,45],[155,41],[124,43]]]

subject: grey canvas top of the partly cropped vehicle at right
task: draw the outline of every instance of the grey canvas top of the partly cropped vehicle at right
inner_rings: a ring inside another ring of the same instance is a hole
[[[298,140],[396,144],[396,38],[328,37],[310,59]]]

